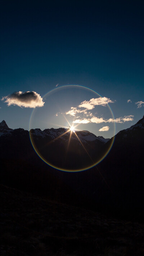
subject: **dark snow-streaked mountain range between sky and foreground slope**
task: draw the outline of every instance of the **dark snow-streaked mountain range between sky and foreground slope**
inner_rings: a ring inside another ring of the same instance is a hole
[[[67,154],[68,161],[61,161],[63,152],[67,150],[69,136],[66,133],[57,140],[55,138],[64,132],[64,128],[31,130],[32,138],[40,150],[44,150],[44,143],[46,145],[53,140],[47,152],[42,152],[51,157],[53,164],[69,169],[79,167],[81,162],[89,165],[90,160],[74,134]],[[37,156],[29,132],[24,129],[10,129],[2,121],[0,135],[3,184],[72,205],[143,218],[144,117],[129,129],[120,131],[107,157],[84,172],[62,172],[46,165]],[[113,139],[106,142],[88,131],[77,132],[77,135],[94,160],[107,151]],[[71,158],[73,161],[70,166]]]

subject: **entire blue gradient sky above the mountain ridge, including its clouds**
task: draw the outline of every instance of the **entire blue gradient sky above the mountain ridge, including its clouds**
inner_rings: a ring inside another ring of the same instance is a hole
[[[134,125],[144,115],[143,13],[143,1],[0,0],[0,121],[43,130],[67,118],[104,138]]]

